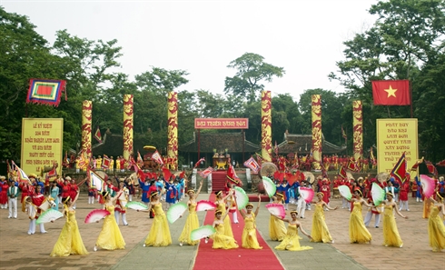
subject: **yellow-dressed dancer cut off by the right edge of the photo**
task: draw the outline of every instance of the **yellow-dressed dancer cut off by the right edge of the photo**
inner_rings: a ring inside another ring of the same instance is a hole
[[[431,206],[431,214],[428,219],[428,237],[430,238],[430,246],[433,252],[440,252],[445,249],[445,225],[440,218],[440,212],[445,215],[444,198],[445,193],[436,193],[437,201],[430,197],[433,203]]]

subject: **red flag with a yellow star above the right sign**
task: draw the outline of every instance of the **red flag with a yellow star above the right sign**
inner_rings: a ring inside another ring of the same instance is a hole
[[[410,105],[410,81],[372,81],[374,105]]]

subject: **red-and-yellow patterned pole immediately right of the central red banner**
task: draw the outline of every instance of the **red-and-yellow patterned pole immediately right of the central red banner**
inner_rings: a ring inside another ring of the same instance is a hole
[[[272,161],[272,98],[271,91],[262,91],[262,159]]]

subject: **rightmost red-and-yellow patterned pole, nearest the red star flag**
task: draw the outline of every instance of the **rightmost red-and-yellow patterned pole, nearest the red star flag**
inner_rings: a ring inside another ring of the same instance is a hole
[[[358,161],[363,155],[363,105],[361,100],[352,101],[352,149]]]

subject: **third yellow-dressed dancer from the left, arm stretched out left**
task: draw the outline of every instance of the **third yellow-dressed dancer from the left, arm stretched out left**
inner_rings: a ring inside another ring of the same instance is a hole
[[[157,192],[150,195],[150,205],[147,210],[137,210],[148,212],[154,210],[154,219],[150,232],[145,238],[143,246],[167,246],[172,244],[172,235],[170,235],[170,228],[168,227],[167,216],[163,212],[163,205],[159,201]]]

